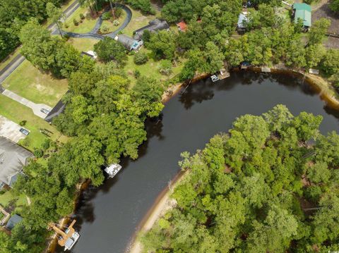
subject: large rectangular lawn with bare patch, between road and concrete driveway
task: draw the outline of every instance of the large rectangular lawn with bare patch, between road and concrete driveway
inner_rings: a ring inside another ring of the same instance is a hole
[[[55,79],[41,73],[29,61],[24,61],[2,85],[37,104],[54,106],[67,91],[66,79]]]

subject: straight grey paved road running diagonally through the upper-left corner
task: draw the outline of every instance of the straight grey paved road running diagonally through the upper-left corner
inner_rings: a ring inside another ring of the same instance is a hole
[[[76,11],[77,8],[79,8],[80,4],[78,1],[74,1],[73,4],[71,4],[66,10],[64,11],[64,14],[66,17],[71,16],[71,14]],[[56,25],[53,23],[47,27],[48,30],[55,30]],[[18,54],[13,60],[8,63],[2,70],[0,70],[0,93],[4,92],[4,88],[1,87],[1,83],[4,82],[6,78],[8,78],[8,75],[11,75],[18,66],[20,66],[21,63],[25,61],[25,57],[23,57],[21,54]]]

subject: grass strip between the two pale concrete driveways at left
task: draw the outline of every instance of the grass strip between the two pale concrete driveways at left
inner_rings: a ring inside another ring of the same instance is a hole
[[[3,94],[0,94],[0,113],[2,116],[14,121],[15,123],[27,121],[24,128],[30,130],[30,134],[25,137],[24,140],[20,140],[19,144],[30,151],[33,151],[35,147],[40,148],[42,142],[44,142],[47,138],[40,132],[40,128],[53,132],[53,134],[51,134],[52,140],[66,142],[66,137],[62,136],[53,125],[49,125],[49,123],[44,121],[42,118],[35,116],[33,111],[27,106],[23,106]]]

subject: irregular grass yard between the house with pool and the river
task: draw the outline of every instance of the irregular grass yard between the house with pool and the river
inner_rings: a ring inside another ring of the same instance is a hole
[[[184,64],[178,63],[177,66],[173,66],[173,73],[169,76],[162,75],[160,70],[160,61],[155,61],[153,58],[150,58],[150,51],[148,49],[145,49],[143,47],[140,52],[144,52],[148,54],[148,62],[143,65],[136,65],[133,61],[133,56],[128,56],[128,61],[126,63],[126,66],[124,67],[129,79],[131,80],[131,85],[134,85],[136,83],[136,78],[134,78],[133,72],[134,70],[139,70],[141,75],[147,76],[147,77],[153,77],[157,80],[161,80],[162,82],[165,82],[166,80],[169,80],[173,78],[175,75],[179,74],[182,70],[182,67]],[[138,53],[137,53],[138,54]]]

